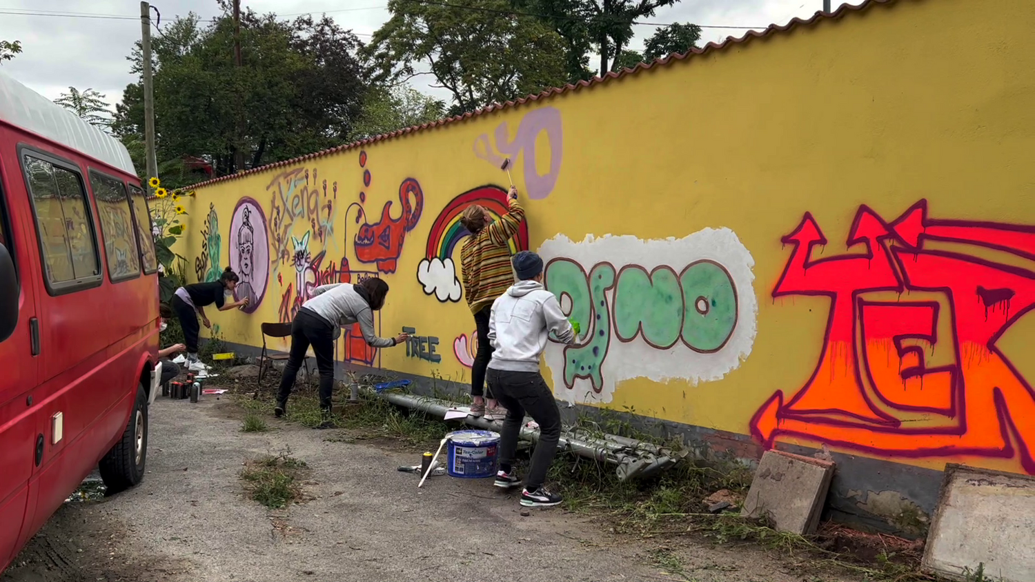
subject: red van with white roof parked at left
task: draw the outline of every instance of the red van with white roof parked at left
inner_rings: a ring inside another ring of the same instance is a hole
[[[157,270],[125,147],[0,73],[0,572],[98,464],[143,479]]]

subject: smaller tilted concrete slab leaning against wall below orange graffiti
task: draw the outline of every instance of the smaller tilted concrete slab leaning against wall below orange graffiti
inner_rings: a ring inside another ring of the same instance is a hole
[[[767,518],[780,531],[812,533],[833,476],[832,461],[766,451],[740,515]]]

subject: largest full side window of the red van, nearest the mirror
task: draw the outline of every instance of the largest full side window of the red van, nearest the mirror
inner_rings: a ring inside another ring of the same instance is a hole
[[[25,172],[47,279],[63,283],[99,275],[93,220],[79,174],[30,155]]]

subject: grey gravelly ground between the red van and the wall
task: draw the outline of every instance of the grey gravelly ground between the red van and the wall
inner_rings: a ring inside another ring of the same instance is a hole
[[[657,543],[556,509],[523,516],[491,482],[437,477],[418,490],[396,467],[419,451],[273,419],[241,433],[242,416],[226,398],[159,398],[144,483],[65,503],[0,582],[819,580],[751,546],[683,542],[660,563]],[[309,467],[304,500],[270,511],[245,498],[243,463],[288,450]]]

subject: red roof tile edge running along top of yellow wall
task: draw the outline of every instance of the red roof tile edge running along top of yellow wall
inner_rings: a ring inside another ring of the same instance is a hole
[[[304,156],[299,156],[299,157],[292,158],[292,159],[286,159],[284,161],[277,161],[277,162],[269,163],[269,164],[266,164],[266,165],[261,165],[259,167],[254,167],[252,170],[246,170],[244,172],[240,172],[238,174],[234,174],[234,175],[231,175],[231,176],[220,176],[219,178],[215,178],[215,179],[212,179],[212,180],[206,180],[204,182],[199,182],[199,183],[195,184],[194,186],[190,186],[189,188],[184,188],[184,189],[201,188],[201,187],[204,187],[204,186],[210,186],[212,184],[217,184],[219,182],[228,182],[230,180],[236,180],[236,179],[239,179],[239,178],[244,178],[246,176],[250,176],[253,174],[259,174],[259,173],[262,173],[262,172],[266,172],[267,170],[273,170],[275,167],[284,167],[284,166],[287,166],[287,165],[296,165],[298,163],[301,163],[303,161],[307,161],[307,160],[310,160],[310,159],[316,159],[316,158],[319,158],[319,157],[324,157],[324,156],[328,156],[328,155],[331,155],[331,154],[335,154],[335,153],[339,153],[339,152],[345,152],[345,151],[348,151],[348,150],[353,150],[353,149],[360,148],[360,147],[363,147],[363,146],[368,146],[371,144],[376,144],[378,142],[385,142],[385,141],[391,140],[393,137],[401,137],[403,135],[407,135],[407,134],[410,134],[410,133],[417,133],[417,132],[423,131],[425,129],[432,129],[434,127],[440,127],[440,126],[443,126],[443,125],[448,125],[448,124],[451,124],[451,123],[456,123],[456,122],[464,121],[464,120],[467,120],[467,119],[470,119],[470,118],[473,118],[473,117],[477,117],[477,116],[480,116],[480,115],[485,115],[485,114],[493,113],[493,112],[499,112],[499,111],[503,111],[503,110],[519,108],[521,105],[524,105],[524,104],[532,102],[532,101],[538,101],[539,99],[546,99],[546,98],[550,98],[550,97],[554,97],[556,95],[560,95],[562,93],[568,93],[570,91],[578,91],[578,90],[583,89],[583,88],[591,88],[591,87],[594,87],[594,86],[599,85],[601,83],[607,83],[609,81],[615,81],[615,80],[618,80],[618,79],[622,79],[623,76],[628,76],[628,75],[631,75],[631,74],[635,74],[635,73],[640,72],[641,70],[647,70],[647,69],[651,69],[651,68],[657,68],[657,67],[668,66],[668,65],[672,64],[673,62],[682,61],[682,60],[685,60],[685,59],[689,59],[689,58],[698,56],[698,55],[706,55],[706,54],[711,53],[711,52],[722,51],[722,50],[726,50],[726,49],[728,49],[730,47],[733,47],[735,44],[737,44],[737,45],[743,44],[743,43],[748,42],[748,41],[750,41],[750,40],[752,40],[755,38],[765,38],[767,36],[771,36],[771,35],[773,35],[775,33],[778,33],[778,32],[779,33],[791,32],[793,29],[801,27],[801,26],[811,26],[811,25],[816,24],[817,22],[820,22],[820,21],[823,21],[823,20],[836,20],[836,19],[840,19],[840,18],[845,17],[846,14],[848,14],[850,12],[860,12],[860,11],[863,11],[866,8],[869,8],[870,6],[874,6],[874,5],[878,5],[878,4],[888,4],[888,5],[890,5],[890,4],[894,4],[898,0],[864,0],[862,3],[855,4],[855,5],[853,5],[853,4],[841,4],[836,10],[834,10],[832,12],[824,12],[822,10],[821,11],[817,11],[808,20],[802,20],[800,18],[795,17],[795,18],[791,19],[786,25],[782,25],[782,26],[777,25],[777,24],[771,24],[765,30],[763,30],[761,32],[756,31],[756,30],[749,30],[749,31],[747,31],[747,33],[744,34],[744,36],[742,36],[740,38],[734,38],[733,36],[729,36],[729,37],[726,38],[726,40],[723,40],[721,42],[709,42],[708,44],[705,44],[704,48],[702,48],[702,49],[694,49],[694,50],[692,50],[692,51],[690,51],[688,53],[674,53],[672,55],[669,55],[668,57],[656,59],[656,60],[654,60],[654,61],[652,61],[650,63],[639,63],[637,66],[634,66],[632,68],[623,68],[622,70],[620,70],[618,72],[609,72],[608,74],[603,75],[602,78],[601,76],[594,76],[593,79],[591,79],[589,81],[580,81],[579,83],[568,84],[568,85],[565,85],[564,87],[557,87],[557,88],[553,88],[553,89],[546,89],[546,90],[544,90],[544,91],[542,91],[540,93],[529,95],[527,97],[522,97],[522,98],[518,99],[516,101],[507,101],[505,103],[493,103],[491,105],[486,105],[484,108],[481,108],[481,109],[476,110],[474,112],[466,113],[464,115],[457,115],[457,116],[454,116],[454,117],[447,117],[447,118],[444,118],[444,119],[440,119],[438,121],[433,121],[433,122],[424,123],[422,125],[414,125],[412,127],[407,127],[405,129],[396,129],[395,131],[392,131],[390,133],[385,133],[385,134],[382,134],[382,135],[375,135],[374,137],[367,137],[366,140],[360,140],[359,142],[352,142],[350,144],[343,144],[341,146],[335,146],[335,147],[327,149],[327,150],[321,150],[319,152],[313,152],[312,154],[306,154]]]

